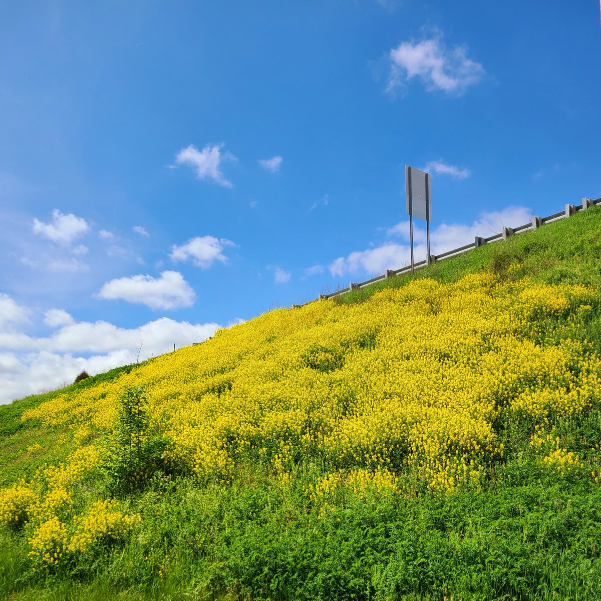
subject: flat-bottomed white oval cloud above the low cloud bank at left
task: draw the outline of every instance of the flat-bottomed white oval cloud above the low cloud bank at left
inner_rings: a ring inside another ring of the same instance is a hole
[[[139,303],[151,309],[177,309],[194,305],[196,294],[181,273],[163,271],[160,278],[133,275],[130,278],[112,279],[100,288],[96,296]]]

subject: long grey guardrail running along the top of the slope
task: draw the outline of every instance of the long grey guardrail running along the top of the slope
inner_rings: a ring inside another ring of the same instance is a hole
[[[465,252],[469,252],[474,248],[478,248],[478,246],[483,246],[490,242],[496,242],[497,240],[504,240],[514,234],[519,234],[524,231],[532,231],[538,230],[544,224],[551,223],[552,221],[558,221],[559,219],[565,219],[566,217],[570,217],[575,215],[579,211],[588,209],[588,207],[592,207],[595,204],[601,204],[601,198],[597,198],[596,200],[591,200],[590,198],[583,198],[582,204],[566,204],[566,209],[560,211],[558,213],[554,213],[553,215],[549,215],[548,217],[532,217],[532,221],[518,225],[517,227],[504,227],[503,231],[499,234],[494,234],[493,236],[489,236],[487,238],[483,238],[481,236],[476,236],[474,242],[471,244],[466,244],[465,246],[460,246],[459,248],[454,248],[452,251],[441,252],[439,255],[430,255],[430,264],[436,263],[437,261],[442,261],[445,259],[449,259],[451,257],[458,257],[459,255],[464,254]],[[424,259],[422,261],[418,261],[417,263],[413,263],[413,270],[422,269],[426,267],[428,262]],[[411,266],[407,265],[405,267],[401,267],[400,269],[386,269],[386,273],[383,275],[378,275],[375,278],[366,279],[364,282],[350,282],[347,288],[342,288],[342,290],[336,290],[331,294],[320,294],[319,299],[331,299],[334,296],[340,296],[340,294],[345,294],[350,292],[351,290],[359,290],[360,288],[364,288],[370,284],[374,284],[375,282],[382,281],[383,279],[390,278],[394,275],[401,275],[403,273],[410,273]]]

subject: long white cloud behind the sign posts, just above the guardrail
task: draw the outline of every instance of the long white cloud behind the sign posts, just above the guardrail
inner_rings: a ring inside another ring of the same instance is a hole
[[[507,207],[502,211],[482,213],[471,225],[441,224],[430,232],[430,253],[441,254],[465,244],[474,242],[475,236],[488,237],[501,232],[504,226],[517,227],[531,219],[531,212],[525,207]],[[409,222],[400,222],[386,230],[389,236],[399,235],[405,242],[409,240]],[[426,231],[413,222],[414,260],[426,258]],[[408,244],[385,242],[376,248],[351,252],[347,257],[338,257],[329,264],[333,276],[365,273],[381,275],[386,269],[399,269],[410,263]]]

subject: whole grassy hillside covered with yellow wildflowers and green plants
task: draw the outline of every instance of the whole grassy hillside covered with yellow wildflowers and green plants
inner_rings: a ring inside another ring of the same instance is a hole
[[[601,209],[0,407],[8,599],[600,599]]]

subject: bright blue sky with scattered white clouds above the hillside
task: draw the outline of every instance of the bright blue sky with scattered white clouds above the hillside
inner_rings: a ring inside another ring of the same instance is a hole
[[[0,56],[0,402],[407,264],[405,164],[434,252],[601,195],[596,0],[23,0]]]

